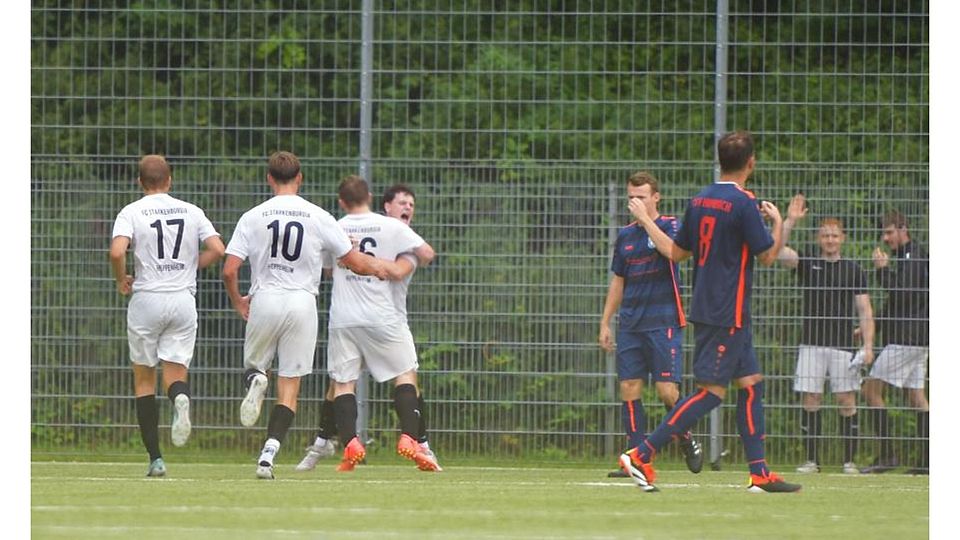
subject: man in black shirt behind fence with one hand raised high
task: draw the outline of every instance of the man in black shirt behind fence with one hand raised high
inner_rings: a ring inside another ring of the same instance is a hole
[[[819,255],[798,254],[786,245],[790,232],[807,214],[806,199],[797,194],[790,200],[783,224],[783,249],[778,260],[794,270],[803,289],[803,337],[797,353],[797,374],[793,389],[800,392],[803,411],[800,429],[803,433],[807,461],[797,468],[799,473],[820,472],[819,441],[821,434],[820,404],[823,384],[830,377],[830,390],[840,413],[840,435],[843,439],[843,472],[858,474],[853,459],[857,453],[860,428],[857,421],[857,390],[860,388],[860,366],[873,363],[873,309],[867,294],[867,276],[856,262],[843,258],[845,235],[837,218],[824,218],[817,230]],[[854,328],[854,315],[859,326]],[[854,355],[861,338],[860,351]]]

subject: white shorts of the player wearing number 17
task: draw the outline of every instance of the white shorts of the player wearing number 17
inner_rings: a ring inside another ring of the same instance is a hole
[[[197,301],[188,290],[139,291],[127,305],[130,361],[157,367],[164,360],[190,367],[197,342]]]

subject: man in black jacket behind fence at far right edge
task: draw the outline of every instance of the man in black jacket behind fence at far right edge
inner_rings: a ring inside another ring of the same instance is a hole
[[[889,417],[883,394],[887,385],[907,391],[907,400],[917,410],[916,435],[920,455],[911,474],[930,471],[930,404],[924,393],[927,354],[930,343],[930,260],[923,247],[911,240],[907,219],[890,211],[883,217],[883,242],[897,259],[896,268],[882,249],[873,250],[873,265],[887,302],[877,321],[883,350],[863,383],[863,395],[870,406],[870,423],[877,438],[879,455],[864,473],[882,473],[897,468],[900,460],[893,451]]]

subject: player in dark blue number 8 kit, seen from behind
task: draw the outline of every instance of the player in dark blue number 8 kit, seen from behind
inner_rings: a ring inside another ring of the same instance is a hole
[[[753,349],[750,295],[753,259],[764,266],[777,260],[783,247],[783,218],[772,203],[758,204],[745,189],[756,166],[753,139],[738,131],[717,143],[720,180],[690,201],[676,239],[671,239],[646,212],[630,201],[630,211],[661,252],[673,261],[693,257],[693,302],[696,348],[693,373],[700,390],[680,400],[643,444],[620,456],[620,466],[644,491],[656,491],[653,459],[679,436],[720,405],[727,386],[737,390],[737,428],[750,468],[750,492],[794,492],[767,467],[764,457],[763,375]],[[766,217],[772,224],[767,231]]]

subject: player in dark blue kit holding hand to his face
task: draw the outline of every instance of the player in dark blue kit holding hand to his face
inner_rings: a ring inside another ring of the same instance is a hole
[[[670,238],[677,234],[676,218],[657,211],[660,189],[648,172],[637,172],[627,180],[627,198],[638,200],[656,226]],[[646,437],[647,415],[641,395],[647,379],[652,379],[657,397],[667,411],[680,398],[680,372],[683,366],[683,327],[686,320],[680,300],[680,270],[657,251],[647,231],[637,223],[620,229],[611,264],[613,275],[600,319],[600,347],[617,353],[617,378],[620,380],[621,417],[630,448],[640,446]],[[620,312],[616,343],[610,320]],[[680,445],[690,472],[703,468],[703,452],[689,431],[680,434]],[[626,476],[622,471],[610,476]]]

